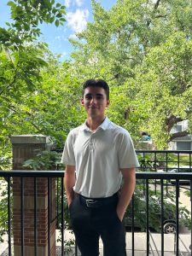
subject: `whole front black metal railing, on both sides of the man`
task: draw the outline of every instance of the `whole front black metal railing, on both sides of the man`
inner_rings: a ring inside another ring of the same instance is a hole
[[[39,177],[44,177],[48,179],[48,255],[50,255],[50,224],[51,224],[51,188],[50,188],[50,179],[51,178],[60,178],[61,179],[61,195],[59,196],[60,198],[60,209],[59,215],[61,216],[60,220],[60,230],[61,230],[61,255],[63,255],[64,252],[64,194],[63,194],[63,172],[44,172],[44,171],[38,171],[38,172],[32,172],[32,171],[13,171],[13,172],[0,172],[0,177],[6,177],[8,183],[7,183],[7,191],[8,191],[8,205],[7,205],[7,210],[8,210],[8,219],[7,219],[7,232],[8,232],[8,241],[9,241],[9,256],[14,255],[13,248],[12,248],[12,242],[13,239],[12,237],[12,209],[11,209],[11,184],[12,184],[12,177],[20,177],[20,247],[21,247],[21,253],[20,255],[26,255],[25,254],[25,226],[24,226],[24,179],[25,177],[33,177],[34,178],[34,227],[33,227],[33,232],[34,232],[34,255],[38,255],[38,234],[37,234],[37,194],[38,194],[38,189],[37,189],[37,179]],[[160,181],[160,236],[161,236],[161,247],[160,247],[160,254],[158,255],[164,255],[164,245],[165,245],[165,232],[163,230],[164,226],[164,186],[165,186],[165,181],[174,179],[176,181],[176,185],[174,188],[176,189],[176,194],[175,194],[175,221],[176,221],[176,233],[173,234],[176,236],[175,238],[175,248],[172,248],[172,251],[175,250],[176,255],[179,254],[179,204],[178,204],[178,198],[179,198],[179,179],[184,179],[184,180],[192,180],[192,174],[191,173],[155,173],[155,172],[137,172],[137,181],[143,180],[145,181],[143,183],[145,187],[145,203],[146,203],[146,219],[145,219],[145,232],[147,236],[146,240],[146,247],[143,248],[147,252],[147,255],[149,255],[150,250],[150,241],[153,241],[153,238],[150,238],[150,223],[149,223],[149,214],[150,214],[150,207],[149,207],[149,201],[150,201],[150,196],[149,196],[149,186],[153,184],[153,180],[159,180]],[[192,191],[191,186],[190,186],[190,191]],[[191,193],[191,192],[190,192]],[[135,196],[134,196],[135,197]],[[132,216],[134,216],[134,197],[132,201]],[[191,218],[191,216],[190,216]],[[131,234],[132,234],[132,255],[134,255],[135,251],[135,228],[134,228],[134,218],[132,218],[132,227],[131,227]]]

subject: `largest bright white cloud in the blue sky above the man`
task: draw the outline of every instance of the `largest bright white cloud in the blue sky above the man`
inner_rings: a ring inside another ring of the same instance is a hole
[[[73,32],[81,32],[86,27],[88,16],[88,9],[77,9],[74,13],[69,12],[67,13],[67,25]]]

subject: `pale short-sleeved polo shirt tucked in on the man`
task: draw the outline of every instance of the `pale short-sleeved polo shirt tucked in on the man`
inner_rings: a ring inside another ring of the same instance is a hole
[[[90,198],[116,193],[121,168],[139,166],[130,134],[106,118],[95,132],[84,123],[69,132],[61,162],[75,166],[74,191]]]

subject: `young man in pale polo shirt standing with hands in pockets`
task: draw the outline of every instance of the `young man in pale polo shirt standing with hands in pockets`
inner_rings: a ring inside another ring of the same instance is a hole
[[[106,116],[108,84],[83,84],[83,125],[70,131],[62,154],[73,232],[82,256],[125,256],[125,209],[135,189],[137,156],[125,129]],[[76,174],[75,174],[76,172]],[[123,177],[123,183],[122,183]]]

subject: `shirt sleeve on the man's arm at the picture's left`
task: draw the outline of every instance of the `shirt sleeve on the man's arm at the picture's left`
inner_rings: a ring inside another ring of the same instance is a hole
[[[63,149],[61,163],[69,166],[75,166],[75,157],[73,150],[73,133],[69,132]]]

